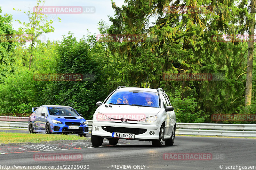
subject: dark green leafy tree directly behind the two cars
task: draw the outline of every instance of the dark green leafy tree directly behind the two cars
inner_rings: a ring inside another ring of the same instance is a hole
[[[56,81],[46,85],[44,103],[66,105],[76,109],[86,119],[92,118],[97,101],[103,100],[105,80],[99,67],[99,61],[92,57],[89,44],[81,39],[79,42],[72,33],[64,36],[57,45],[57,65],[52,69],[55,73],[93,75],[83,81]]]

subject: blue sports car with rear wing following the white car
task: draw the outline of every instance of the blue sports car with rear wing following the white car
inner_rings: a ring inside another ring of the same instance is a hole
[[[36,111],[34,111],[36,109]],[[29,133],[88,134],[88,122],[69,106],[43,105],[32,107],[28,119]]]

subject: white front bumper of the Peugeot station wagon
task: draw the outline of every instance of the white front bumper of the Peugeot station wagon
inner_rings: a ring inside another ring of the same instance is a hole
[[[99,130],[96,131],[95,127],[98,127]],[[136,131],[136,129],[145,129],[145,132],[143,131],[144,133],[141,133],[141,134],[135,133],[134,139],[131,139],[131,140],[149,140],[150,141],[150,140],[159,139],[160,127],[158,127],[157,125],[116,123],[116,122],[114,123],[114,122],[101,122],[101,121],[93,121],[92,122],[92,135],[101,136],[103,138],[113,138],[112,132],[115,132],[115,131],[114,130],[106,131],[105,127],[111,127],[111,129],[131,128],[132,130],[135,130],[135,131]],[[149,134],[150,131],[154,131],[155,134],[150,135]],[[120,132],[120,131],[118,131],[118,132]],[[138,131],[136,131],[136,132],[138,132]],[[129,130],[124,131],[124,133],[129,133]]]

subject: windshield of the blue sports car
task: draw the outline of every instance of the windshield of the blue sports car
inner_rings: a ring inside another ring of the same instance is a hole
[[[79,116],[73,108],[69,107],[48,107],[48,110],[53,116]]]

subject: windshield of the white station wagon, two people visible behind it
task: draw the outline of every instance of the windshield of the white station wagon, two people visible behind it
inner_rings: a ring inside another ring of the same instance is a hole
[[[117,90],[108,98],[105,104],[160,107],[157,92],[136,90]]]

